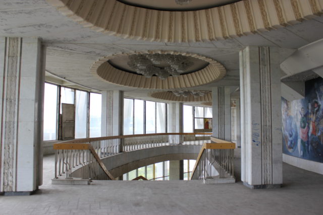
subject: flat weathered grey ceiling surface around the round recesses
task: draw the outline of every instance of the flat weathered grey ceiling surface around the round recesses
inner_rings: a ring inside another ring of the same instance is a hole
[[[220,81],[192,89],[239,86],[241,49],[247,45],[276,46],[282,48],[287,57],[295,49],[323,38],[323,17],[227,40],[167,43],[130,40],[96,32],[62,15],[45,0],[2,0],[0,36],[40,37],[47,47],[46,70],[63,80],[99,91],[123,90],[128,97],[155,100],[149,96],[151,90],[106,83],[90,73],[90,66],[103,56],[121,52],[169,50],[196,53],[219,61],[227,69],[227,74]]]

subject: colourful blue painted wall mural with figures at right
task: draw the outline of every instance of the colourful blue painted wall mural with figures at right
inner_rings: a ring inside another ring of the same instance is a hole
[[[305,98],[282,98],[283,153],[323,163],[323,79],[305,82]]]

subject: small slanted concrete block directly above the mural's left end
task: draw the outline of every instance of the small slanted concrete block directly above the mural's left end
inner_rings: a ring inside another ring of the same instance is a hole
[[[304,99],[305,82],[282,82],[282,97],[288,101]]]

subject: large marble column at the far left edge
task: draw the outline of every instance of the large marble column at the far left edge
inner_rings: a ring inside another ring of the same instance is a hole
[[[38,38],[0,38],[0,192],[31,194],[42,184],[45,48]]]

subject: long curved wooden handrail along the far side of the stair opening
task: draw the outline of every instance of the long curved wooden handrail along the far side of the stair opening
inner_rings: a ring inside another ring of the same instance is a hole
[[[129,135],[117,135],[117,136],[101,136],[101,137],[90,137],[90,138],[80,138],[80,139],[72,139],[65,140],[59,143],[64,144],[76,144],[82,142],[90,142],[90,141],[99,141],[99,140],[107,140],[107,139],[123,139],[129,137],[140,137],[140,136],[157,136],[157,135],[212,135],[212,133],[145,133],[145,134],[129,134]]]

